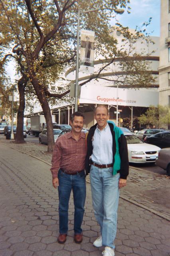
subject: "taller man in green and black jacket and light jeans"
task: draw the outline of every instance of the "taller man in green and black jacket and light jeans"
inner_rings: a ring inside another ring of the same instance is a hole
[[[98,105],[94,117],[97,124],[87,135],[85,160],[95,217],[101,228],[101,236],[93,245],[105,246],[103,255],[114,256],[119,190],[126,186],[128,176],[127,141],[121,129],[108,121],[106,105]]]

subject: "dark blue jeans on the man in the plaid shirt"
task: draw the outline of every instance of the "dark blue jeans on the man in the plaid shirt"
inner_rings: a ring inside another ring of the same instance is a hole
[[[74,232],[81,234],[81,224],[83,221],[84,205],[86,197],[85,171],[75,175],[65,174],[59,170],[59,233],[67,234],[68,231],[68,209],[71,190],[74,199]]]

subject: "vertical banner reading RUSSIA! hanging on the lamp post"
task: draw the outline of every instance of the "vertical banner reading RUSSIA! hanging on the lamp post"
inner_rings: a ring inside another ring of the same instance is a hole
[[[80,71],[94,73],[95,32],[81,30]]]

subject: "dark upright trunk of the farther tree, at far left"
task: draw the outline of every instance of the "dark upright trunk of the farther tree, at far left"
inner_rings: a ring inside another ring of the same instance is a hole
[[[24,126],[24,110],[25,110],[25,87],[28,77],[24,74],[18,81],[18,91],[20,95],[20,104],[17,113],[16,143],[25,143],[23,126]]]

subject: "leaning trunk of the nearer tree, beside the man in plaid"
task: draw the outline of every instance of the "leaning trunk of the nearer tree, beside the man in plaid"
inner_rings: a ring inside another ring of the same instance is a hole
[[[49,108],[49,103],[45,96],[45,92],[42,89],[43,85],[38,82],[36,74],[31,68],[29,70],[29,76],[30,76],[30,81],[32,82],[32,85],[36,91],[38,100],[40,101],[40,104],[42,106],[46,124],[47,124],[47,143],[48,143],[47,152],[53,152],[54,135],[53,135],[53,123],[52,123],[52,116],[51,116],[51,110]]]

